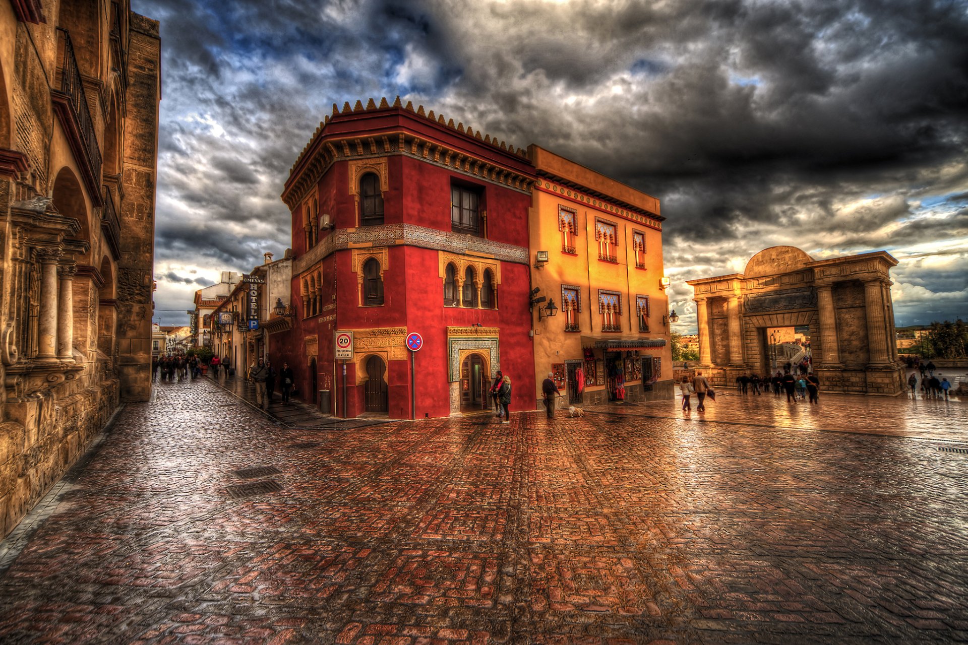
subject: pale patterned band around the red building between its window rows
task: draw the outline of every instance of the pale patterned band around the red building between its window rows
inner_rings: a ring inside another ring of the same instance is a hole
[[[360,228],[340,228],[327,235],[319,244],[297,257],[292,265],[293,275],[309,271],[320,260],[337,250],[363,247],[419,247],[449,250],[454,253],[478,255],[502,262],[528,264],[528,248],[494,242],[463,233],[440,231],[416,224],[384,224]]]

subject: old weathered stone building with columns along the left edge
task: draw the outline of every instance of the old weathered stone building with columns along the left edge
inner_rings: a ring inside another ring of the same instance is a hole
[[[106,6],[126,12],[128,4]],[[24,18],[16,4],[0,12],[0,116],[8,117],[0,128],[10,124],[10,134],[0,134],[0,537],[117,409],[119,362],[139,360],[140,351],[150,361],[158,25],[132,15],[131,38],[111,38],[112,25],[127,20],[97,14],[76,23],[64,19],[79,16],[60,11],[65,6],[54,3],[45,22]],[[74,37],[83,76],[66,87],[64,52]],[[131,44],[130,57],[118,43]],[[115,73],[126,63],[130,87]],[[123,102],[126,92],[122,163],[108,159],[104,103]],[[111,204],[120,211],[121,249],[113,245]],[[119,267],[128,272],[125,287]],[[130,390],[147,396],[147,366],[127,378]]]

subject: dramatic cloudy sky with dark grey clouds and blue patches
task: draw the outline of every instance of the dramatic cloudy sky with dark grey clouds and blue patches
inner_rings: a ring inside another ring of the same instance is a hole
[[[397,95],[661,201],[687,279],[887,250],[898,326],[968,318],[968,0],[133,0],[161,21],[156,320],[290,246],[332,104]]]

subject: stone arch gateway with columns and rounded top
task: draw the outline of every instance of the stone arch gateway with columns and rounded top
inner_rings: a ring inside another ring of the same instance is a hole
[[[886,251],[814,260],[771,247],[741,274],[688,280],[699,328],[699,368],[713,384],[771,368],[767,330],[808,327],[813,371],[827,392],[904,392],[894,343]]]

